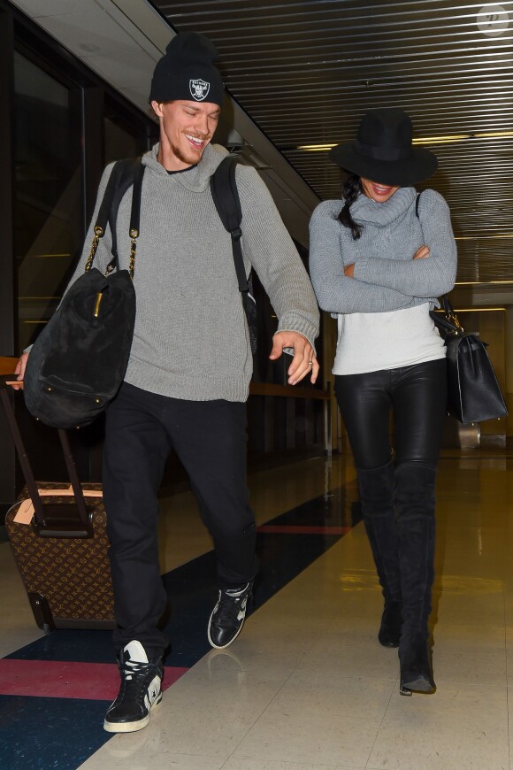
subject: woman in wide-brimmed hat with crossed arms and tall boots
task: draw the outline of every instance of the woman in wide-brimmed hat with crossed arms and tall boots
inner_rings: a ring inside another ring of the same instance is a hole
[[[367,112],[356,141],[330,153],[349,172],[343,200],[319,204],[310,222],[311,279],[338,318],[335,394],[385,599],[379,642],[399,647],[403,695],[435,689],[428,619],[447,392],[429,312],[456,277],[448,205],[412,187],[437,160],[412,146],[412,133],[402,110]]]

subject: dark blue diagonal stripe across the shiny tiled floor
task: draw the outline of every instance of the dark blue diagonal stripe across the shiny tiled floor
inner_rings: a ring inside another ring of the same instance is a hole
[[[315,497],[267,523],[281,527],[353,527],[361,519],[355,497],[353,484],[334,489],[329,495]],[[322,556],[341,536],[259,533],[261,572],[254,609]],[[172,649],[165,658],[166,666],[194,666],[211,650],[206,627],[217,597],[215,574],[213,551],[165,574],[172,606],[172,617],[166,627]],[[57,630],[7,657],[111,663],[111,632]],[[103,701],[1,696],[0,767],[76,770],[111,737],[103,731],[104,709]]]

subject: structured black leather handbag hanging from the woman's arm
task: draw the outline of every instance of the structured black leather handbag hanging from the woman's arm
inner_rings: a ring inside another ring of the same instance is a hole
[[[445,337],[448,365],[448,412],[463,425],[508,414],[486,343],[463,330],[447,297],[444,313],[431,312]]]

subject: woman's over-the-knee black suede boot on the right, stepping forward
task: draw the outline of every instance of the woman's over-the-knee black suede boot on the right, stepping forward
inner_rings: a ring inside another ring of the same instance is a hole
[[[434,578],[435,479],[436,468],[422,463],[404,463],[395,469],[402,582],[402,695],[435,689],[428,626]]]

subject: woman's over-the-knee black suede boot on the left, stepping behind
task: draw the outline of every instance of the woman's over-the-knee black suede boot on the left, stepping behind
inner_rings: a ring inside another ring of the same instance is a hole
[[[397,523],[394,514],[394,463],[365,470],[358,468],[358,486],[364,525],[383,589],[385,607],[378,639],[384,647],[397,647],[401,635],[401,572]]]

